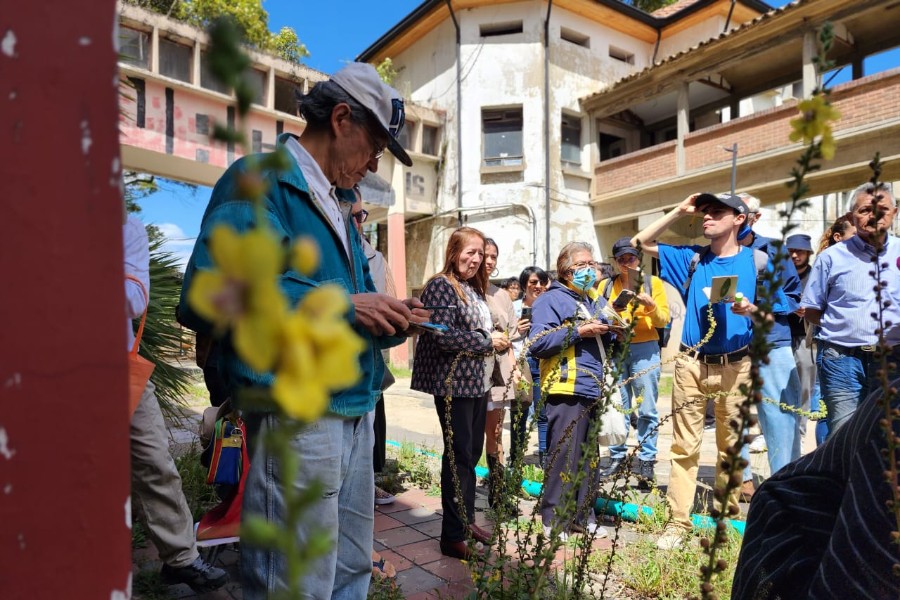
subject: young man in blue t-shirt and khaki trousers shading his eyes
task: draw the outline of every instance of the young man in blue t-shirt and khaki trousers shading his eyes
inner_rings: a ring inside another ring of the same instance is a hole
[[[703,246],[657,244],[659,236],[675,221],[699,214],[703,215],[703,237],[709,240],[708,250]],[[640,243],[646,255],[659,257],[660,278],[681,292],[685,305],[681,354],[675,362],[672,391],[672,470],[666,494],[672,523],[657,540],[661,549],[681,546],[684,534],[691,528],[708,396],[714,399],[716,407],[717,487],[724,486],[727,479],[721,468],[722,461],[730,458],[726,450],[738,439],[738,432],[729,421],[740,421],[743,395],[739,386],[750,383],[749,317],[756,310],[754,253],[737,240],[747,216],[747,205],[737,196],[694,194],[632,239],[635,245]],[[696,262],[695,256],[699,256]],[[712,278],[735,275],[737,289],[730,290],[724,301],[710,305]],[[736,293],[743,295],[740,302],[734,301]],[[715,330],[707,340],[710,306]],[[739,509],[738,494],[739,489],[735,488],[727,501],[729,507]],[[718,508],[724,509],[721,505]]]

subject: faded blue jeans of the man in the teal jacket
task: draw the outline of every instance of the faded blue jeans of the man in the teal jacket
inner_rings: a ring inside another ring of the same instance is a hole
[[[375,481],[372,477],[374,434],[369,419],[322,417],[291,440],[299,459],[293,479],[281,479],[281,463],[269,454],[262,436],[278,423],[272,414],[249,415],[247,436],[255,444],[244,488],[242,515],[284,522],[283,488],[290,485],[303,493],[322,486],[322,497],[309,507],[294,530],[300,546],[313,535],[324,534],[330,550],[309,565],[300,580],[304,599],[365,598],[372,576],[372,542],[375,525]],[[244,598],[268,598],[287,587],[284,555],[275,550],[241,543],[241,582]]]

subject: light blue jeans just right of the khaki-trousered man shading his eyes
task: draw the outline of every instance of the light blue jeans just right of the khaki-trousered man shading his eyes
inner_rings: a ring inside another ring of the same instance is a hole
[[[759,364],[759,375],[763,380],[763,401],[756,410],[759,427],[766,438],[769,470],[774,475],[784,465],[800,458],[800,418],[773,403],[800,408],[800,377],[791,347],[772,348],[769,364]]]

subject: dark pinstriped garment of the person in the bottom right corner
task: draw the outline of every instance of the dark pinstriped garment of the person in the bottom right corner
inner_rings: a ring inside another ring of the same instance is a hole
[[[885,506],[891,491],[880,393],[754,494],[732,600],[900,598],[900,577],[891,572],[900,546],[891,542],[897,524]],[[900,420],[893,428],[900,435]]]

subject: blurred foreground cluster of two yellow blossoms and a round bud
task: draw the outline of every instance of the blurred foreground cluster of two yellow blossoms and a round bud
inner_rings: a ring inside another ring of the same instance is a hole
[[[295,419],[312,421],[328,407],[331,394],[361,377],[359,353],[365,344],[344,318],[349,300],[337,285],[306,294],[294,310],[278,285],[285,252],[267,228],[238,234],[216,227],[209,240],[214,270],[194,275],[188,302],[216,330],[230,330],[238,356],[259,373],[274,372],[272,396]],[[315,242],[298,240],[292,266],[315,271]]]

